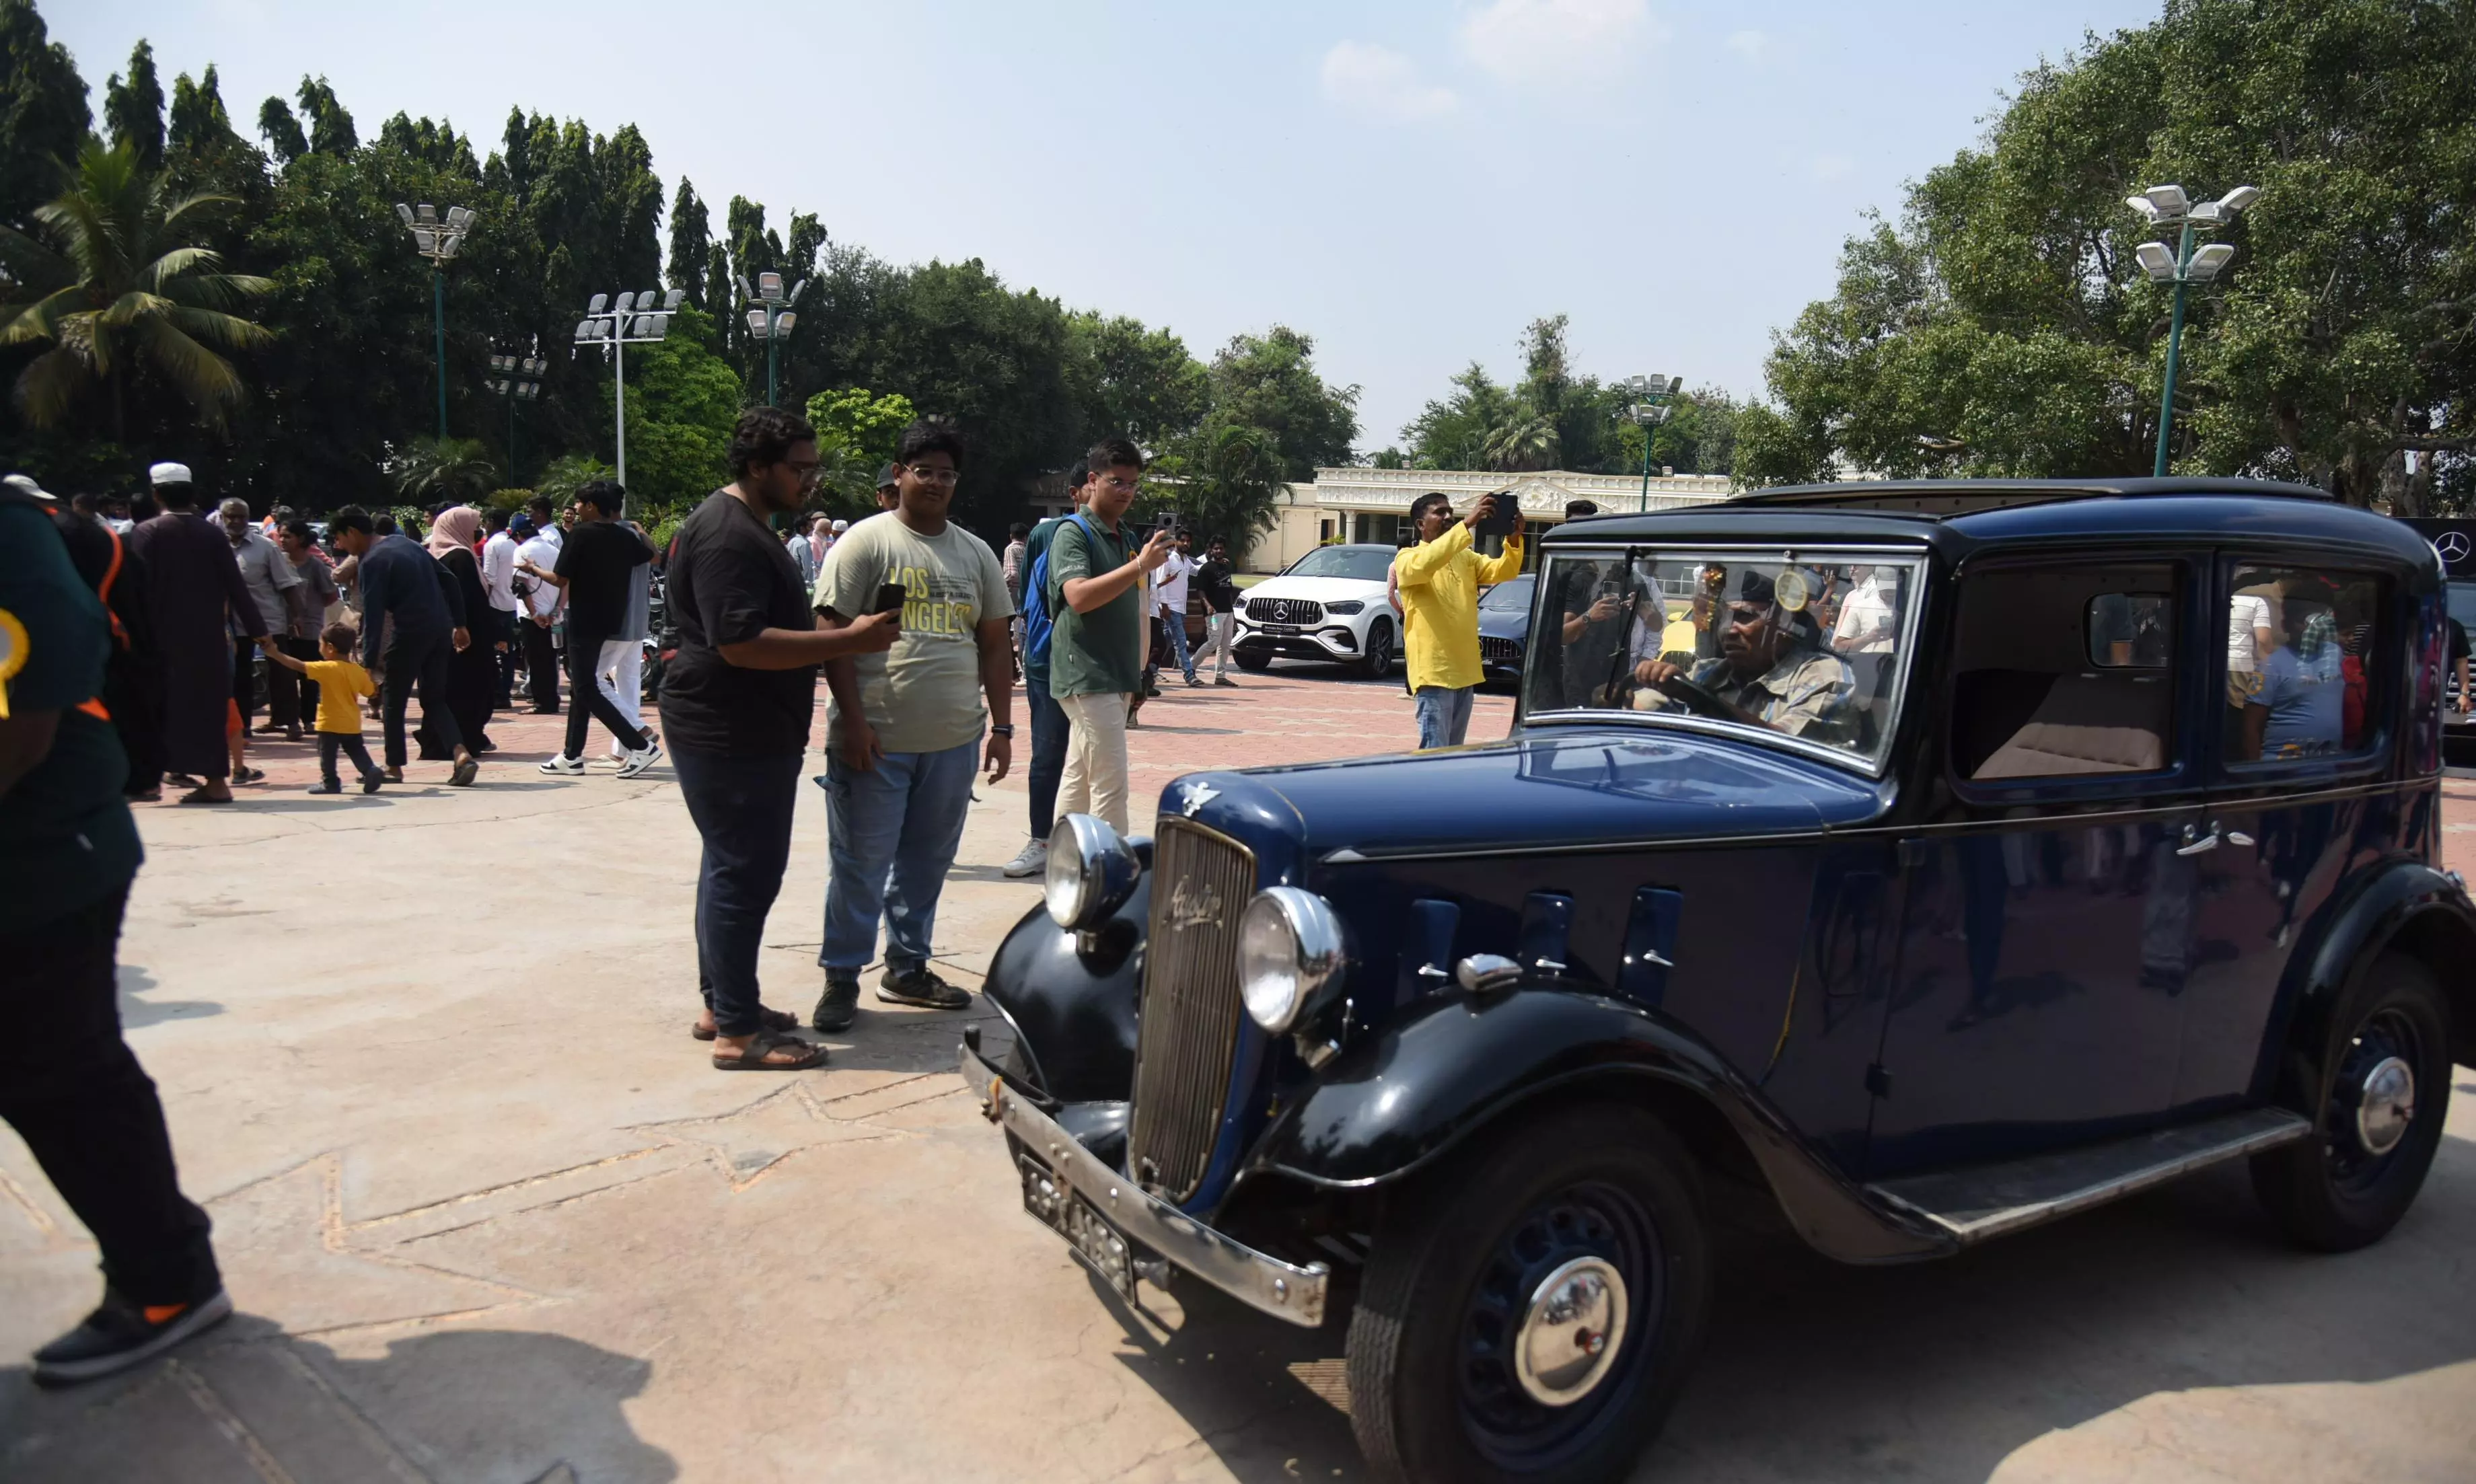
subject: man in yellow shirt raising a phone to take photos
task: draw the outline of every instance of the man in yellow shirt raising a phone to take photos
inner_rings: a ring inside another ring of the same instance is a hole
[[[1401,595],[1401,647],[1409,654],[1409,691],[1419,704],[1419,748],[1458,746],[1471,731],[1471,691],[1478,689],[1478,590],[1523,570],[1523,515],[1513,510],[1513,535],[1496,560],[1471,550],[1471,533],[1496,500],[1486,495],[1466,518],[1439,493],[1411,500],[1409,523],[1419,545],[1394,557]]]

